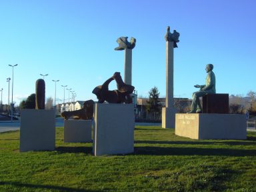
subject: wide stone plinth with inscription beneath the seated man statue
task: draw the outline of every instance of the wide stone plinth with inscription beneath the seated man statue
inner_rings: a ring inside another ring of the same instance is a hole
[[[191,139],[246,139],[246,117],[240,114],[176,114],[175,135]]]

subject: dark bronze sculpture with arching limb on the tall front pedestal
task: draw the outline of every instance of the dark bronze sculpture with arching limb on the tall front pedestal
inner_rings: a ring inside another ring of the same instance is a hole
[[[114,79],[117,82],[117,90],[109,91],[109,83]],[[134,87],[125,84],[120,73],[115,72],[103,85],[95,87],[93,93],[97,95],[98,103],[103,103],[104,101],[108,103],[132,103],[131,93],[133,93],[133,90]]]

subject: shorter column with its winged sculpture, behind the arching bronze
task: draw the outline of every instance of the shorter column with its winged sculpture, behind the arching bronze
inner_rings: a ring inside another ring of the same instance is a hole
[[[131,37],[129,42],[128,37],[119,37],[117,43],[119,47],[115,47],[116,51],[125,50],[125,78],[124,82],[131,85],[131,65],[132,65],[132,50],[135,47],[136,39]]]

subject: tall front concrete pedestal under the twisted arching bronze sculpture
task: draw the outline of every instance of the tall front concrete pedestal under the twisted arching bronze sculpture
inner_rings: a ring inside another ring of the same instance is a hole
[[[133,104],[99,104],[94,106],[93,154],[133,153]]]

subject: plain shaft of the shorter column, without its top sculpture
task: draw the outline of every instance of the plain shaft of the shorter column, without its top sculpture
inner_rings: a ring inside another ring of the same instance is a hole
[[[132,66],[132,55],[133,49],[125,49],[125,78],[126,84],[131,85],[131,66]]]

